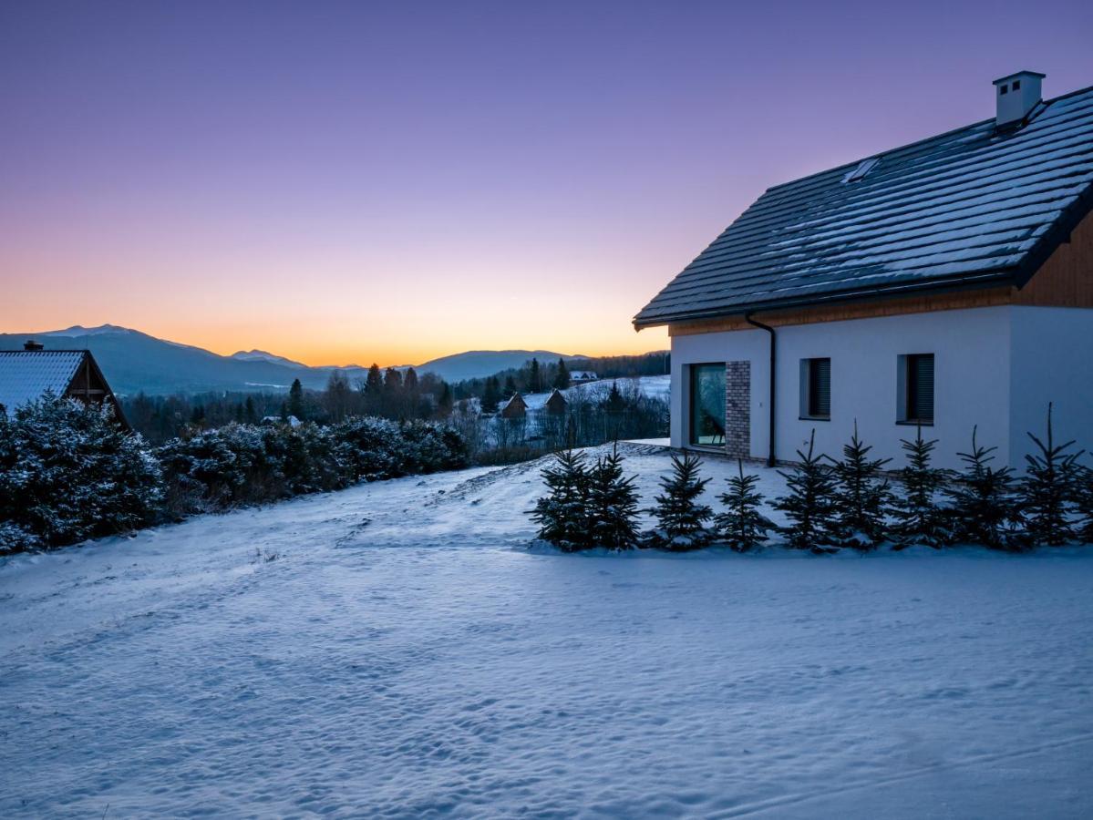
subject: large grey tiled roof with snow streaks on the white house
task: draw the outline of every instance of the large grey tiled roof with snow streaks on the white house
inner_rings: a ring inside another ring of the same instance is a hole
[[[768,189],[634,324],[1023,286],[1091,210],[1093,87]]]

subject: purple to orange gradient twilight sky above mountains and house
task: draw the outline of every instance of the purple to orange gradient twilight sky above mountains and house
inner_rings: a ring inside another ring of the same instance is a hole
[[[1093,3],[0,3],[0,330],[636,353],[766,187],[1093,84]]]

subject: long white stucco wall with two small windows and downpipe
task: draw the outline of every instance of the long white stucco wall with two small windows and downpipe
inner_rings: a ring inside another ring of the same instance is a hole
[[[859,433],[873,444],[873,453],[892,457],[893,467],[901,466],[900,439],[913,438],[915,428],[896,423],[897,358],[932,353],[935,425],[924,428],[924,436],[939,440],[938,465],[960,466],[956,453],[968,447],[973,425],[979,427],[982,443],[998,447],[999,463],[1008,461],[1013,442],[1010,389],[1016,367],[1011,367],[1014,310],[1021,309],[1002,306],[776,329],[777,457],[795,460],[796,451],[807,447],[812,428],[818,452],[837,456],[857,419]],[[1039,323],[1022,318],[1022,338],[1034,336]],[[761,330],[673,336],[672,444],[685,445],[685,366],[748,359],[752,363],[751,453],[753,457],[765,457],[768,356],[767,334]],[[830,421],[799,418],[800,359],[812,357],[832,360]],[[1032,367],[1021,365],[1022,372]]]

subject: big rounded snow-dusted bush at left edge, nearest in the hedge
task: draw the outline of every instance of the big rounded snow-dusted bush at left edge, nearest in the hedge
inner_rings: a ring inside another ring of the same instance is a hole
[[[47,393],[0,415],[0,552],[136,530],[162,496],[160,465],[109,406]]]

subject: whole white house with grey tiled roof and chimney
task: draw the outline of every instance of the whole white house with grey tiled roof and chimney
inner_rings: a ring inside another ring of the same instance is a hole
[[[878,456],[978,426],[1020,467],[1048,402],[1093,447],[1093,87],[768,189],[634,319],[671,336],[674,447]]]

